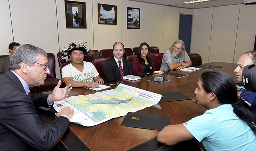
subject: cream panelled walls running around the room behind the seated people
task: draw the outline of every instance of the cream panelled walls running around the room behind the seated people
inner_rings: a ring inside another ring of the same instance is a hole
[[[14,40],[41,47],[56,56],[75,38],[87,41],[88,48],[96,50],[112,48],[114,42],[130,48],[147,42],[165,52],[178,39],[179,14],[193,14],[191,53],[199,53],[203,63],[236,63],[241,54],[251,51],[254,45],[256,5],[191,10],[128,0],[81,0],[86,2],[87,28],[67,29],[64,0],[9,2],[10,5],[4,0],[0,6],[0,55],[8,54],[8,44]],[[98,24],[98,3],[118,6],[117,25]],[[127,7],[141,9],[140,29],[126,28]],[[57,58],[56,73],[60,78]]]

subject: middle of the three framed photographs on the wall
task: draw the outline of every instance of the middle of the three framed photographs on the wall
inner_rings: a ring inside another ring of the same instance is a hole
[[[98,24],[117,25],[117,6],[98,4]]]

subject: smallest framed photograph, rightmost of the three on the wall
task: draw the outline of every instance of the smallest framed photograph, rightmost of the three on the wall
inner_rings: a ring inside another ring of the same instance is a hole
[[[127,29],[140,29],[140,8],[127,7]]]

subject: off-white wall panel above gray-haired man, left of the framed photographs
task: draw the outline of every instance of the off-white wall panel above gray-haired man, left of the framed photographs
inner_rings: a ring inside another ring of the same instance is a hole
[[[55,1],[10,0],[9,2],[14,41],[35,45],[55,54],[56,57],[59,45]],[[58,64],[55,70],[56,76],[60,78]]]

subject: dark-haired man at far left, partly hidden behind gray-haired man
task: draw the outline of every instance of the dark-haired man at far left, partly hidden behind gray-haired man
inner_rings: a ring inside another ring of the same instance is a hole
[[[19,43],[12,42],[9,44],[9,56],[0,59],[0,75],[6,73],[8,71],[8,67],[11,63],[12,55],[15,49],[19,46]]]

